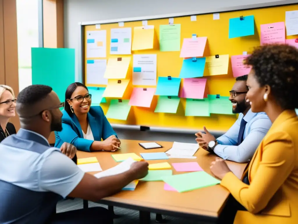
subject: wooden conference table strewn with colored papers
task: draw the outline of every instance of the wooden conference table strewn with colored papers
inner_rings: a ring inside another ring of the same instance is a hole
[[[116,152],[82,152],[77,151],[78,158],[97,157],[103,170],[111,168],[118,163],[111,157],[111,154],[139,153],[143,152],[163,152],[170,149],[173,142],[157,142],[164,148],[145,150],[139,146],[135,140],[121,140],[121,150]],[[195,155],[196,159],[177,159],[170,158],[165,160],[150,160],[151,163],[158,162],[198,162],[205,172],[211,174],[210,163],[214,161],[216,155],[209,154],[203,149],[199,149]],[[229,168],[240,179],[246,164],[226,161]],[[172,167],[173,174],[176,172]],[[95,174],[98,172],[91,172]],[[219,214],[224,208],[229,192],[220,185],[201,188],[184,193],[165,191],[164,182],[142,182],[140,181],[134,191],[121,191],[111,197],[103,198],[99,201],[101,204],[118,206],[140,211],[140,223],[147,224],[150,222],[150,212],[171,215],[176,217],[194,218],[195,220],[216,222]]]

